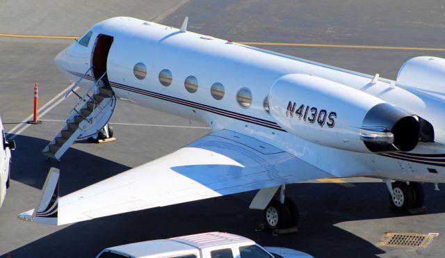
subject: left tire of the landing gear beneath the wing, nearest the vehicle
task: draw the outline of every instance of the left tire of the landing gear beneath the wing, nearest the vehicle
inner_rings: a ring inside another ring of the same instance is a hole
[[[264,223],[270,229],[286,227],[289,222],[289,211],[278,200],[271,200],[266,209],[264,209]]]

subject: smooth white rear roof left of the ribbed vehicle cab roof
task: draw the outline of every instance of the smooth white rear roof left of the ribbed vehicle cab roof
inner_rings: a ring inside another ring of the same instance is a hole
[[[106,248],[105,250],[112,250],[122,255],[131,255],[138,258],[172,256],[185,254],[184,252],[190,251],[190,254],[196,253],[196,248],[190,245],[184,245],[176,241],[168,239],[159,239],[152,241],[144,241],[138,243],[129,243],[127,245],[118,245],[112,248]]]

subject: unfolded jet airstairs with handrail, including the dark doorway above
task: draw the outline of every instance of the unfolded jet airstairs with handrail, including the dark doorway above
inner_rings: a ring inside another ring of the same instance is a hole
[[[113,37],[98,35],[91,55],[91,67],[74,83],[72,90],[89,72],[92,73],[92,86],[72,108],[67,122],[51,143],[44,148],[43,154],[51,159],[60,160],[75,140],[97,134],[110,120],[116,105],[116,97],[108,82],[107,59],[113,45]]]

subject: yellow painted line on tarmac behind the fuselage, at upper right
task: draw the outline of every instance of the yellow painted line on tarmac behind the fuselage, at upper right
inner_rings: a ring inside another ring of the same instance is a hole
[[[243,45],[261,46],[287,46],[287,47],[337,47],[348,49],[387,49],[387,50],[421,50],[421,51],[445,51],[445,48],[433,47],[389,47],[389,46],[360,46],[360,45],[332,45],[332,44],[307,44],[307,43],[280,43],[280,42],[237,42]]]

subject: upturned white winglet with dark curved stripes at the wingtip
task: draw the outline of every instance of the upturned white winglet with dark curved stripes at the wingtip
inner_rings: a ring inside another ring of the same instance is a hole
[[[42,195],[37,209],[31,209],[19,214],[22,220],[58,225],[58,184],[60,172],[57,168],[50,168],[44,182]]]

